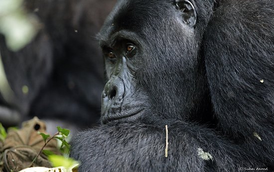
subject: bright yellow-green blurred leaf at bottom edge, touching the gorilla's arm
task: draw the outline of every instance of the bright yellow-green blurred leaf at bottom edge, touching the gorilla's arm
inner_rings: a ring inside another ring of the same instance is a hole
[[[78,161],[75,161],[71,158],[65,158],[59,155],[50,155],[48,156],[48,160],[51,162],[53,167],[63,166],[65,168],[70,168],[76,164],[79,164]]]

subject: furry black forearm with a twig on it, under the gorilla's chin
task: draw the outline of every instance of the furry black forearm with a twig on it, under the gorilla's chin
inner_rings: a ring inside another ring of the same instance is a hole
[[[158,123],[103,125],[78,133],[70,156],[85,162],[79,172],[232,172],[251,167],[248,153],[209,129],[180,121]]]

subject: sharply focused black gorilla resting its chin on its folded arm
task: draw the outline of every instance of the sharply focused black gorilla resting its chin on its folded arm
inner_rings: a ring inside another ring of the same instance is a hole
[[[119,0],[79,172],[274,171],[273,16],[272,0]]]

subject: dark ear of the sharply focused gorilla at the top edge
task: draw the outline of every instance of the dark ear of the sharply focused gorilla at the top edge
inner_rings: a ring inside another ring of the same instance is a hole
[[[196,24],[197,13],[189,0],[176,0],[176,9],[181,11],[183,22],[191,27]]]

